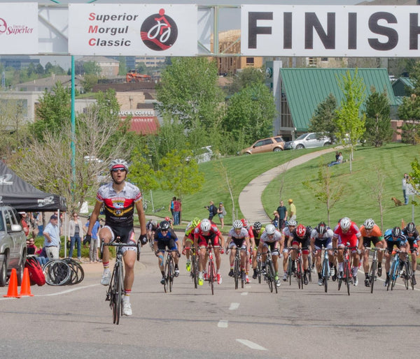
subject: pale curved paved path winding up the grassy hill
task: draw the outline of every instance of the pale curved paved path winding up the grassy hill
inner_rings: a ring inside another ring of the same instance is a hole
[[[297,159],[283,163],[282,165],[267,170],[267,172],[255,177],[239,194],[239,207],[241,208],[242,214],[244,214],[244,218],[252,223],[255,221],[260,221],[261,223],[270,222],[271,219],[265,212],[264,207],[262,207],[261,201],[262,191],[264,191],[267,184],[274,180],[276,176],[290,168],[334,151],[337,151],[337,148],[321,149],[321,151],[304,154],[303,156],[297,157]],[[287,205],[287,203],[285,205]]]

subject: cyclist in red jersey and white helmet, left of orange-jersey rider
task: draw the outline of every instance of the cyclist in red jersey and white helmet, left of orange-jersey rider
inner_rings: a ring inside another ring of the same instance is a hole
[[[360,233],[358,226],[352,222],[348,217],[343,217],[339,220],[339,223],[334,228],[334,236],[332,237],[334,242],[334,247],[344,248],[346,244],[349,243],[349,247],[356,247],[351,249],[351,258],[352,258],[352,268],[351,272],[354,277],[354,285],[358,285],[357,272],[358,272],[358,263],[359,263],[359,253],[361,246],[363,244],[363,237]],[[343,274],[343,250],[339,249],[337,253],[338,261],[338,275],[339,278],[342,278]]]

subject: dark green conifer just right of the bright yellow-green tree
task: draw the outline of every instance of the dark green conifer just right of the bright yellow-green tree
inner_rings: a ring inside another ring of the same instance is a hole
[[[374,147],[380,147],[392,139],[391,129],[391,108],[389,99],[384,92],[377,92],[372,89],[372,94],[366,101],[366,132],[363,139]]]

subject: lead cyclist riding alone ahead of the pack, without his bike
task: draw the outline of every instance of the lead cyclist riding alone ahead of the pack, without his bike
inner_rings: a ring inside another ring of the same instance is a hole
[[[141,192],[137,186],[126,182],[128,173],[128,164],[122,159],[111,161],[109,170],[113,182],[104,184],[99,187],[97,193],[97,201],[94,210],[90,216],[89,227],[87,228],[86,237],[90,239],[92,228],[96,223],[99,213],[104,206],[105,210],[105,226],[99,230],[99,238],[105,243],[109,243],[120,237],[121,242],[136,244],[134,238],[134,207],[136,207],[140,222],[141,245],[147,243],[146,235],[146,217],[144,216],[143,201]],[[125,268],[124,291],[123,298],[123,314],[132,315],[130,305],[130,293],[134,283],[134,263],[137,259],[137,247],[124,247],[123,260]],[[109,270],[109,247],[104,246],[102,258],[104,265],[104,274],[102,275],[101,284],[109,285],[111,280],[111,271]]]

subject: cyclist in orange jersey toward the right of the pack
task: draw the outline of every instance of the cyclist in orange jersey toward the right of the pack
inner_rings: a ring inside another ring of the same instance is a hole
[[[365,270],[365,286],[370,286],[369,283],[369,250],[366,247],[371,247],[371,243],[375,247],[386,248],[384,236],[381,229],[374,224],[372,218],[366,219],[363,226],[360,227],[360,233],[363,237],[363,269]],[[382,275],[382,258],[384,251],[378,252],[378,276]]]

